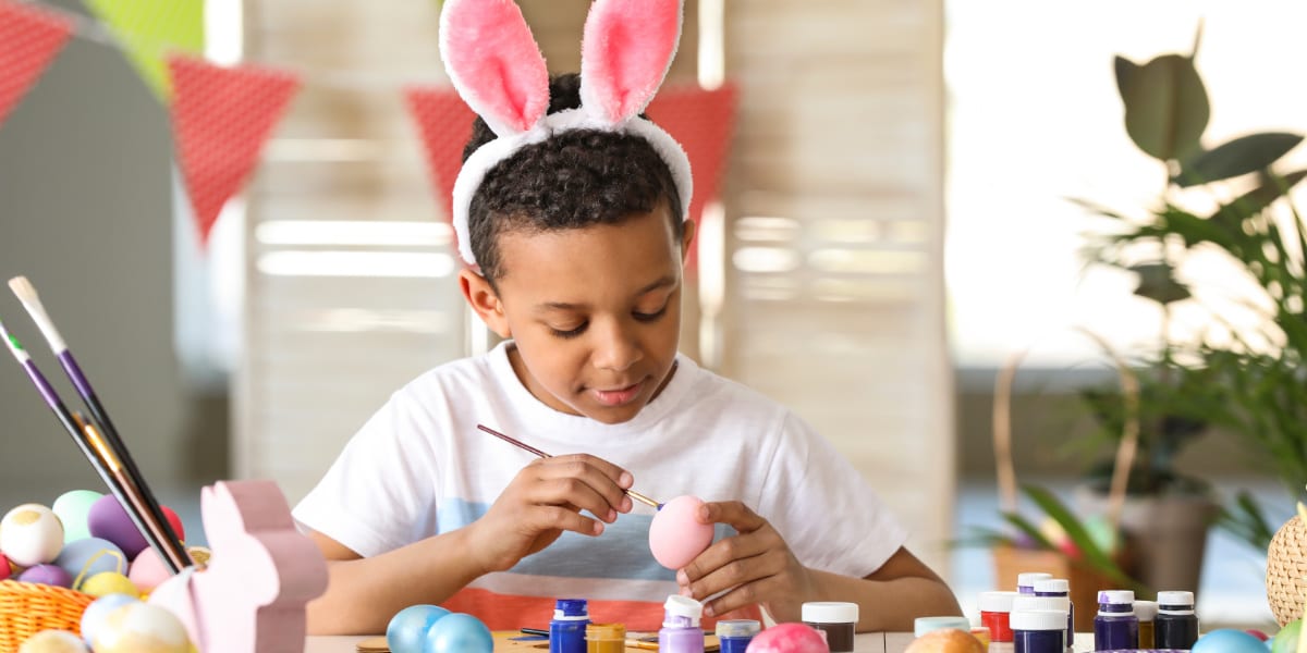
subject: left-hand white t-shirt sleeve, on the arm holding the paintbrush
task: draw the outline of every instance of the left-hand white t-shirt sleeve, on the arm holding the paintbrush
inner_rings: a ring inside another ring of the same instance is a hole
[[[363,558],[434,532],[438,479],[421,415],[392,396],[295,505],[295,521]]]

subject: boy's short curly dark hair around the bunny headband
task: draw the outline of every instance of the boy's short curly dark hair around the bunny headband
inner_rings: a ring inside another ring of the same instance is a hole
[[[576,107],[580,76],[550,78],[549,112]],[[494,138],[478,116],[463,161]],[[521,148],[486,172],[468,210],[472,253],[481,274],[494,282],[505,272],[497,243],[503,232],[616,225],[661,202],[667,202],[680,239],[685,231],[680,193],[672,171],[648,141],[595,129],[562,132]]]

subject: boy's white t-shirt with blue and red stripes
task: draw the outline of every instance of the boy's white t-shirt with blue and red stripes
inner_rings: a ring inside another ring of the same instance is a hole
[[[604,424],[532,396],[508,362],[511,346],[443,364],[396,392],[295,507],[295,520],[365,558],[471,524],[533,460],[477,430],[485,424],[555,456],[608,460],[634,475],[634,490],[660,502],[680,495],[744,502],[810,568],[863,577],[907,537],[810,426],[684,355],[639,414]],[[677,586],[674,571],[648,550],[652,515],[635,503],[600,537],[563,533],[444,605],[499,629],[540,626],[555,597],[580,597],[589,599],[595,622],[656,629],[661,602]],[[719,525],[718,538],[727,534]]]

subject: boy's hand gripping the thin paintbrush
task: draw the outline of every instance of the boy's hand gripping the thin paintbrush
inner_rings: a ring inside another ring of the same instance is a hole
[[[545,549],[563,530],[599,535],[631,511],[634,478],[586,453],[538,458],[518,473],[480,520],[468,526],[472,556],[484,573],[506,571]],[[580,515],[587,511],[599,520]]]

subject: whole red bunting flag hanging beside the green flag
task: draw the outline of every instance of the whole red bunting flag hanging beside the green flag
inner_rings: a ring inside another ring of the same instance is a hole
[[[222,205],[259,163],[259,151],[299,89],[299,78],[282,71],[222,68],[184,56],[169,56],[167,67],[176,155],[200,240],[208,243]]]

